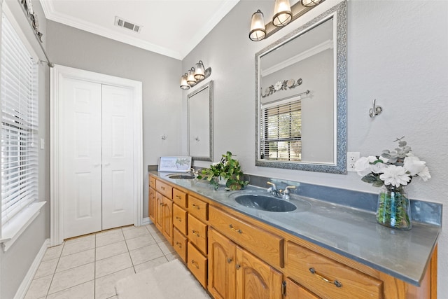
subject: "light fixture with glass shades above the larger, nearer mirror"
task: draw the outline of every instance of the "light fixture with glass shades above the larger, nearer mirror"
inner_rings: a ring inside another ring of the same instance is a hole
[[[325,0],[300,0],[293,6],[290,6],[289,0],[276,0],[272,21],[266,25],[263,20],[262,11],[258,10],[253,13],[249,39],[251,39],[251,41],[261,41],[262,39],[271,36],[279,31],[279,29],[288,25],[301,15],[304,15],[307,11],[310,11],[323,1]]]

